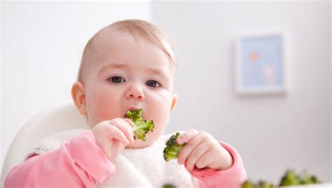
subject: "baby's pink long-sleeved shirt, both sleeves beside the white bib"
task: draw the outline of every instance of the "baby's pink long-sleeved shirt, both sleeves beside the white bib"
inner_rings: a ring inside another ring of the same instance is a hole
[[[228,170],[198,169],[189,171],[200,180],[200,187],[240,187],[247,180],[240,154],[221,142],[233,157]],[[91,160],[93,157],[93,160]],[[86,131],[76,135],[60,149],[32,156],[15,166],[7,175],[5,187],[95,187],[116,170],[97,146],[94,135]]]

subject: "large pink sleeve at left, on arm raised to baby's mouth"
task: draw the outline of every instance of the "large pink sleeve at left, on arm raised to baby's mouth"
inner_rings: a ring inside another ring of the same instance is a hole
[[[115,171],[86,131],[63,142],[60,149],[32,156],[8,173],[5,187],[95,187]]]

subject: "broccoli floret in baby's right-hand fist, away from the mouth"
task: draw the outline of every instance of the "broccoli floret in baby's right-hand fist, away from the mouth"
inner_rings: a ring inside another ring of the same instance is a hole
[[[164,159],[165,161],[170,161],[171,159],[177,159],[179,156],[179,152],[184,147],[185,144],[179,145],[177,143],[177,137],[179,137],[180,133],[175,133],[170,137],[166,142],[166,147],[164,149]]]

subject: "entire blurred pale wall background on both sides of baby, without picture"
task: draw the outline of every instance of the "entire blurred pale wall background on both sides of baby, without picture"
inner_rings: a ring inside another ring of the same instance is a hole
[[[166,133],[196,128],[241,154],[251,180],[286,169],[331,182],[331,1],[1,1],[1,160],[22,124],[71,100],[85,43],[117,20],[170,36],[179,95]],[[235,41],[282,30],[285,93],[235,93]]]

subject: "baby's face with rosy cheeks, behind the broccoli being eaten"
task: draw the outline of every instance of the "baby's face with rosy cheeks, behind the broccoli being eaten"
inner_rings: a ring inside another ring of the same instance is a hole
[[[143,118],[155,128],[146,141],[127,147],[151,145],[162,134],[177,100],[173,94],[175,66],[165,53],[144,39],[114,31],[102,37],[85,74],[88,123],[124,118],[129,109],[143,109]]]

